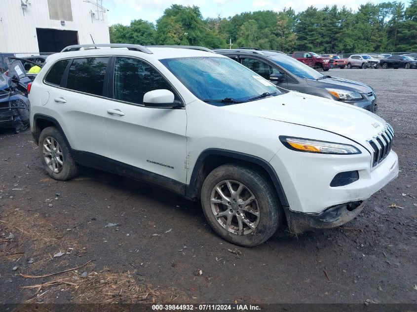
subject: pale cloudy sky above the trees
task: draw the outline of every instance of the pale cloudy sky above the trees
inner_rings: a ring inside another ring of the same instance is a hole
[[[109,25],[129,25],[132,20],[143,19],[154,23],[162,16],[164,10],[171,4],[196,5],[200,8],[201,14],[206,17],[229,17],[235,14],[248,11],[275,10],[280,11],[284,7],[292,7],[296,13],[305,10],[313,5],[318,9],[326,5],[337,4],[338,7],[345,5],[348,8],[357,10],[361,4],[366,2],[380,3],[388,0],[103,0],[103,6],[109,9]],[[408,1],[402,1],[408,5]]]

